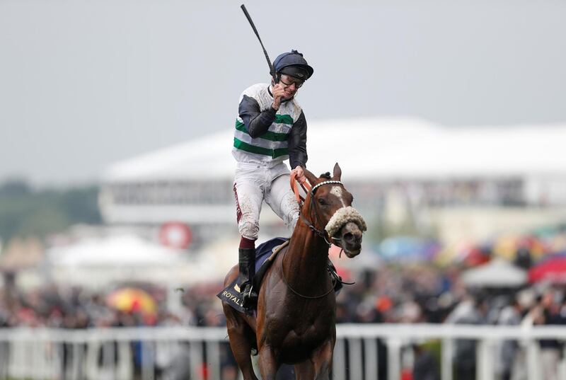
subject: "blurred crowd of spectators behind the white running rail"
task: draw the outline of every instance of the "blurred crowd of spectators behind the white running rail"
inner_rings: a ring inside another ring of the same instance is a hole
[[[561,285],[524,286],[519,289],[468,289],[461,269],[439,268],[427,263],[383,265],[352,276],[355,284],[345,285],[337,295],[337,323],[462,323],[487,325],[566,325],[565,288]],[[166,308],[167,289],[151,284],[127,284],[149,294],[153,305],[132,301],[112,304],[112,294],[79,287],[55,285],[30,292],[13,287],[0,291],[0,323],[3,327],[97,328],[132,326],[224,326],[221,304],[215,294],[221,284],[201,284],[178,289],[175,296],[183,306],[178,313]],[[458,340],[454,352],[455,378],[475,379],[476,341]],[[381,344],[381,342],[380,342]],[[563,343],[540,340],[543,380],[560,379]],[[379,352],[386,360],[386,347]],[[415,345],[414,365],[423,368],[414,380],[434,380],[439,362],[431,352]],[[229,355],[229,354],[228,354]],[[524,350],[516,341],[506,341],[499,350],[499,378],[526,379]],[[236,374],[230,359],[224,368]],[[429,367],[427,372],[426,367]],[[380,367],[386,373],[386,369]],[[424,377],[430,373],[429,377]],[[231,378],[229,375],[223,378]]]

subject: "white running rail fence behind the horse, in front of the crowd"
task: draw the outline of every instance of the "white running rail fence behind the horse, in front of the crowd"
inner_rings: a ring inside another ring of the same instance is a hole
[[[520,343],[526,378],[541,379],[537,342],[541,338],[566,341],[566,328],[342,324],[337,326],[333,379],[400,380],[401,372],[412,363],[412,350],[407,348],[439,340],[441,379],[453,380],[457,339],[477,340],[478,380],[497,379],[497,347],[503,340]],[[378,345],[378,339],[383,345]],[[383,379],[379,347],[387,347],[388,372]],[[1,380],[222,380],[223,369],[231,362],[229,355],[226,328],[0,329]],[[566,379],[565,360],[558,373],[559,379]]]

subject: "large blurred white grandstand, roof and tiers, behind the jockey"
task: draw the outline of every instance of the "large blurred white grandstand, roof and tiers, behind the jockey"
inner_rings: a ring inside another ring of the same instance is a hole
[[[308,128],[308,168],[318,174],[340,163],[342,180],[368,219],[387,214],[388,201],[399,195],[408,214],[427,210],[437,224],[454,224],[464,208],[466,218],[479,210],[503,229],[557,221],[566,206],[566,125],[449,128],[411,118],[357,118],[317,120]],[[226,128],[110,166],[100,192],[105,221],[233,226],[232,133]],[[529,217],[522,222],[518,212]],[[262,226],[280,226],[270,210],[264,214]]]

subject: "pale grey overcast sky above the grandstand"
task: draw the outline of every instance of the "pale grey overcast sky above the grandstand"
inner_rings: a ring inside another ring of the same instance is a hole
[[[233,128],[241,91],[269,77],[240,4],[0,0],[0,180],[96,182],[116,161]],[[565,1],[246,6],[272,59],[294,48],[314,67],[307,120],[566,122]]]

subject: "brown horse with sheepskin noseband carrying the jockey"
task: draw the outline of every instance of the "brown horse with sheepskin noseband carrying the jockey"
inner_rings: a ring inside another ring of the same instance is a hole
[[[222,303],[230,347],[244,380],[258,380],[252,350],[258,352],[263,380],[275,380],[282,364],[294,364],[298,380],[330,379],[336,299],[327,270],[328,248],[333,241],[348,258],[358,255],[366,225],[340,182],[338,163],[332,177],[325,173],[317,178],[306,169],[304,173],[311,188],[287,249],[279,251],[263,277],[257,316]],[[224,286],[237,276],[236,265]]]

